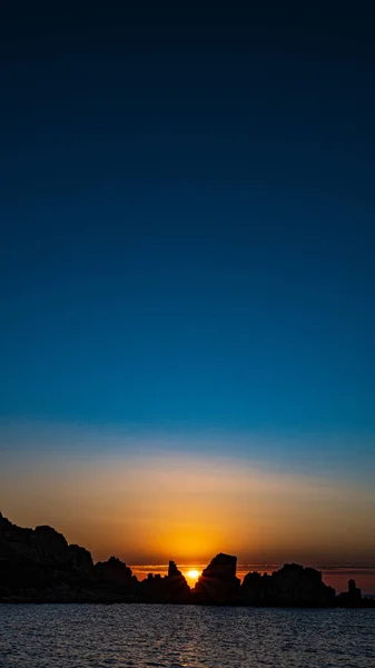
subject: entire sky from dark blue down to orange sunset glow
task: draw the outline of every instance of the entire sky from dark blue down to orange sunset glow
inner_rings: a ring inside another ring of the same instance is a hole
[[[2,11],[2,512],[375,564],[372,17]]]

